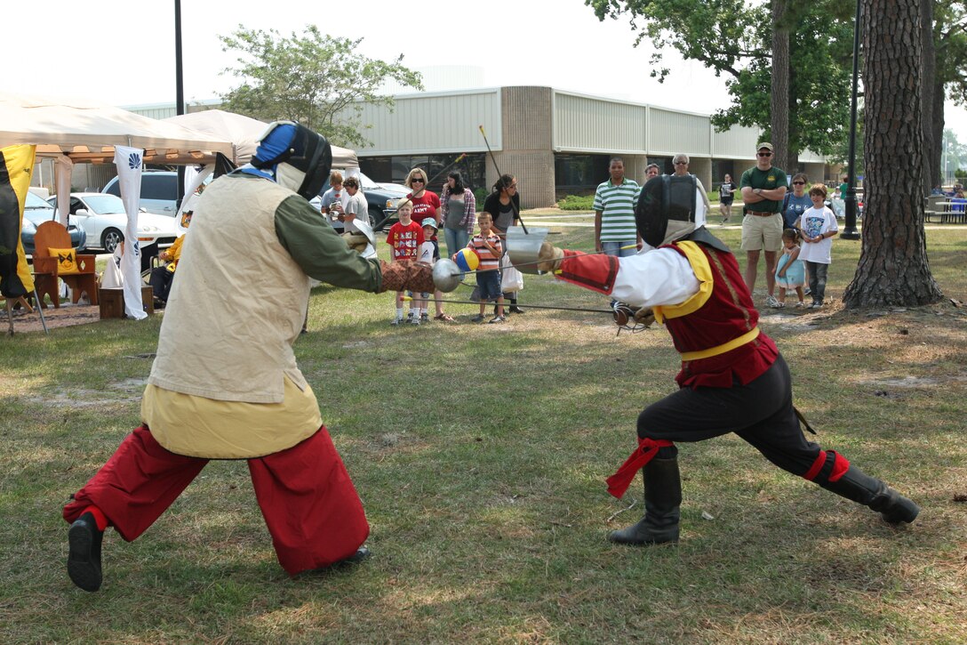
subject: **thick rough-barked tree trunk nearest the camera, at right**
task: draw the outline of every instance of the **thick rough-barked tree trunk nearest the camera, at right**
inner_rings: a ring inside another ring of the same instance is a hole
[[[943,293],[923,231],[920,0],[862,1],[863,247],[843,301],[847,308],[937,302]]]

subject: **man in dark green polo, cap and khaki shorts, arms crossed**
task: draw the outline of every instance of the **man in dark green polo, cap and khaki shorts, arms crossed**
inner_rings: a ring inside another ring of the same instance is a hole
[[[762,142],[756,146],[755,166],[742,173],[739,182],[742,200],[746,202],[746,216],[742,220],[742,250],[746,252],[746,284],[755,290],[755,274],[759,268],[759,254],[765,251],[767,306],[777,304],[776,260],[782,250],[782,199],[789,182],[785,170],[773,166],[773,144]]]

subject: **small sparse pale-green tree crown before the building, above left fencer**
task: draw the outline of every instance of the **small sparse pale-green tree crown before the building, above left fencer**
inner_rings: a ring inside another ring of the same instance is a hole
[[[239,25],[219,38],[223,51],[239,52],[238,66],[224,73],[242,79],[221,96],[225,109],[266,121],[290,119],[336,145],[366,145],[363,106],[394,105],[392,96],[380,93],[386,81],[423,89],[420,75],[402,65],[402,54],[391,63],[366,58],[357,53],[362,38],[324,35],[314,25],[287,38]]]

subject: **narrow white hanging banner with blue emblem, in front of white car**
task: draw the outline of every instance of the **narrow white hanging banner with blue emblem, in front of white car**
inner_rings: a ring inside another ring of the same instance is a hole
[[[144,150],[114,146],[114,165],[118,168],[121,200],[128,213],[124,231],[124,256],[121,275],[124,276],[124,313],[135,321],[148,317],[141,302],[141,247],[137,241],[137,210],[141,205],[141,166]]]

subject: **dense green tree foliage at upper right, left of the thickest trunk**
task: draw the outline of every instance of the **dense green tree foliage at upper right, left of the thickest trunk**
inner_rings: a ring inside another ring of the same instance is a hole
[[[662,80],[662,50],[669,47],[717,75],[729,76],[730,107],[718,110],[719,131],[733,125],[770,135],[773,17],[770,3],[742,0],[585,0],[600,19],[628,15],[638,40],[658,50],[652,76]],[[849,78],[853,16],[848,3],[788,0],[789,146],[833,153],[849,134]]]

